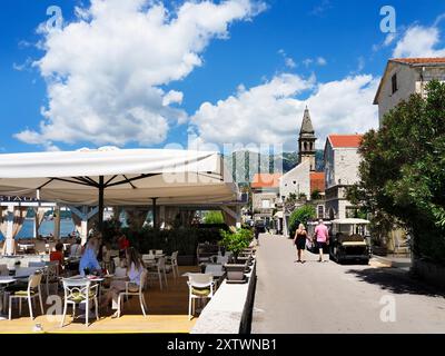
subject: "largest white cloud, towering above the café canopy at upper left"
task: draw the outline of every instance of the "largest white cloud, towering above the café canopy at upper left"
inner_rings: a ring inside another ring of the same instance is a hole
[[[42,34],[46,53],[34,66],[47,81],[44,120],[16,137],[40,145],[162,142],[187,115],[170,106],[182,93],[161,86],[201,66],[202,51],[227,38],[231,22],[264,9],[256,0],[190,0],[172,12],[151,0],[91,0],[62,30]]]

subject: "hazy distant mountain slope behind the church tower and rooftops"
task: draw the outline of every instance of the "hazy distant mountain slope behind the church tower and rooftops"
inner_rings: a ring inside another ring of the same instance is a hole
[[[284,152],[281,155],[260,155],[251,151],[237,151],[225,156],[227,168],[233,174],[234,180],[243,184],[251,181],[257,172],[286,174],[298,164],[297,152]],[[323,150],[315,154],[317,171],[324,170]]]

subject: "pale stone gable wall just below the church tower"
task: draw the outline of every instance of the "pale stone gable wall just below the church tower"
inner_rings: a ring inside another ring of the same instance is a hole
[[[279,196],[286,199],[291,192],[297,196],[304,192],[310,199],[310,162],[308,160],[280,178]]]

